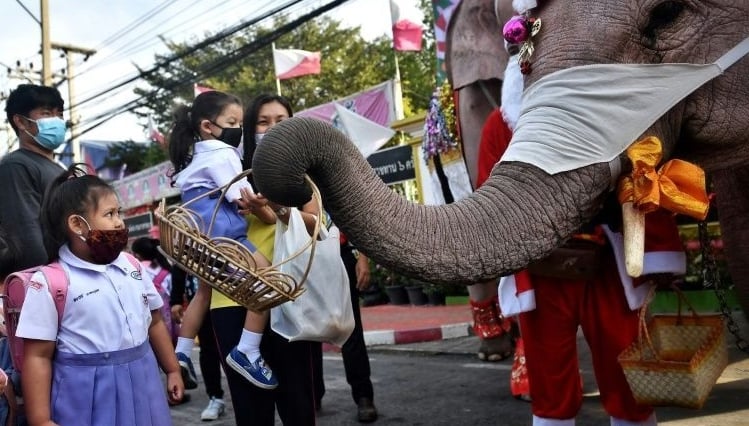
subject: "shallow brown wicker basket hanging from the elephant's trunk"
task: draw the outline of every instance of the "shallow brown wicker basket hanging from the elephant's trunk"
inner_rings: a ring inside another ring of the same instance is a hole
[[[168,258],[234,302],[253,311],[264,311],[294,300],[304,292],[302,285],[307,278],[314,256],[315,241],[320,231],[322,203],[319,190],[307,177],[313,196],[320,206],[313,235],[307,244],[288,259],[267,268],[258,268],[252,253],[241,243],[230,238],[208,237],[226,190],[250,173],[250,170],[246,170],[227,185],[201,194],[182,205],[166,207],[165,201],[162,200],[154,214],[158,219],[161,233],[160,250]],[[189,209],[189,205],[216,193],[220,196],[216,199],[211,223],[204,224],[200,216]],[[277,269],[279,265],[299,256],[310,246],[310,262],[302,277],[294,277]]]

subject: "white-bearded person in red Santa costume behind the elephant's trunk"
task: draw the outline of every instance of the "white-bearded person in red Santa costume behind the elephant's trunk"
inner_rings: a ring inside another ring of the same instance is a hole
[[[502,86],[502,115],[509,130],[519,118],[523,91],[516,59],[508,62]],[[487,150],[504,152],[508,142],[496,140],[504,145]],[[485,161],[491,157],[486,155]],[[491,170],[487,166],[481,168]],[[617,357],[637,339],[639,309],[655,285],[651,278],[671,282],[683,275],[686,256],[673,214],[652,212],[646,216],[643,275],[632,279],[624,264],[621,217],[612,211],[619,212],[608,209],[572,238],[599,253],[598,265],[587,265],[597,267],[594,274],[554,277],[523,270],[500,279],[501,312],[506,317],[519,316],[533,425],[575,424],[582,405],[578,329],[590,347],[601,402],[611,425],[656,424],[653,408],[635,401]]]

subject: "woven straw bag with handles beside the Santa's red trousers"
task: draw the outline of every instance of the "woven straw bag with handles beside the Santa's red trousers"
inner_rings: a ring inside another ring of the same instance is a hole
[[[676,315],[653,315],[647,321],[643,306],[638,340],[619,355],[619,364],[638,403],[702,408],[728,365],[725,327],[720,315],[697,315],[676,291]],[[681,315],[682,300],[691,316]]]

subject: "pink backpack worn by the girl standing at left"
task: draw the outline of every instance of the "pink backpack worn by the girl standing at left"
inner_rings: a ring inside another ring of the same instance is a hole
[[[59,262],[14,272],[5,278],[3,315],[5,316],[5,328],[8,333],[13,368],[19,373],[23,369],[23,339],[16,336],[16,328],[18,327],[18,317],[21,315],[21,307],[26,298],[26,289],[30,286],[41,285],[31,281],[31,277],[37,271],[41,271],[47,280],[49,292],[52,294],[52,300],[55,301],[55,307],[57,308],[58,324],[62,322],[65,299],[68,296],[68,276]]]

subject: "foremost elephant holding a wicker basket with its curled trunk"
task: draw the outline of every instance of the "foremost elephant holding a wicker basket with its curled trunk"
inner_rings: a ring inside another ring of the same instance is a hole
[[[531,13],[543,25],[533,37],[535,52],[524,77],[526,95],[534,83],[580,66],[709,64],[749,36],[749,2],[744,0],[541,1]],[[503,16],[502,21],[509,18]],[[682,158],[712,176],[729,270],[745,312],[747,75],[749,60],[744,56],[654,115],[654,122],[642,132],[660,138],[664,160]],[[511,149],[515,144],[527,146],[522,144],[528,132],[521,132],[529,113],[525,103],[536,96],[540,93],[523,98]],[[294,118],[266,135],[253,170],[257,189],[284,205],[310,198],[304,179],[308,174],[336,224],[376,262],[428,281],[472,284],[515,272],[548,255],[593,218],[612,182],[629,167],[625,148],[611,161],[562,171],[546,171],[527,158],[503,159],[469,197],[425,206],[391,191],[343,134],[319,121]]]

